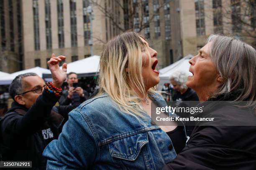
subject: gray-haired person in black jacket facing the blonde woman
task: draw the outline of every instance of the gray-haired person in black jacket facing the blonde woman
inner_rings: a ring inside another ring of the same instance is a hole
[[[208,108],[204,116],[216,121],[197,124],[187,146],[164,170],[255,170],[256,50],[240,40],[211,35],[189,63],[193,75],[187,86],[205,101],[200,104]],[[225,101],[243,101],[246,108]]]

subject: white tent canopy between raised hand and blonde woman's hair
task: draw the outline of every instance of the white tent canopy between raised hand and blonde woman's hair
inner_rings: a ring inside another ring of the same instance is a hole
[[[100,56],[93,55],[91,57],[77,60],[67,64],[67,73],[75,72],[79,77],[93,76],[100,69]],[[44,78],[48,80],[51,74],[44,74]]]

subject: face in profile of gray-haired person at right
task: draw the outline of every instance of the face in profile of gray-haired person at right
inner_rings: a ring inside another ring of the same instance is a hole
[[[210,43],[202,47],[198,54],[189,60],[189,71],[192,76],[187,78],[187,87],[194,89],[196,92],[199,90],[217,90],[218,72],[214,63],[210,58]]]

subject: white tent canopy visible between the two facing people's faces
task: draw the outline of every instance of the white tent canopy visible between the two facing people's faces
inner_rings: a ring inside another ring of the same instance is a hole
[[[164,83],[169,83],[171,75],[176,71],[184,71],[187,72],[188,75],[192,75],[192,73],[189,72],[189,60],[192,57],[193,55],[189,54],[186,57],[183,57],[181,60],[178,60],[177,62],[174,62],[173,64],[159,70],[160,82],[158,84],[157,89],[161,90]]]

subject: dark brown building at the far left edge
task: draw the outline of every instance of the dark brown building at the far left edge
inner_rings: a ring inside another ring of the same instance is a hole
[[[0,0],[0,71],[22,69],[22,35],[20,0]]]

